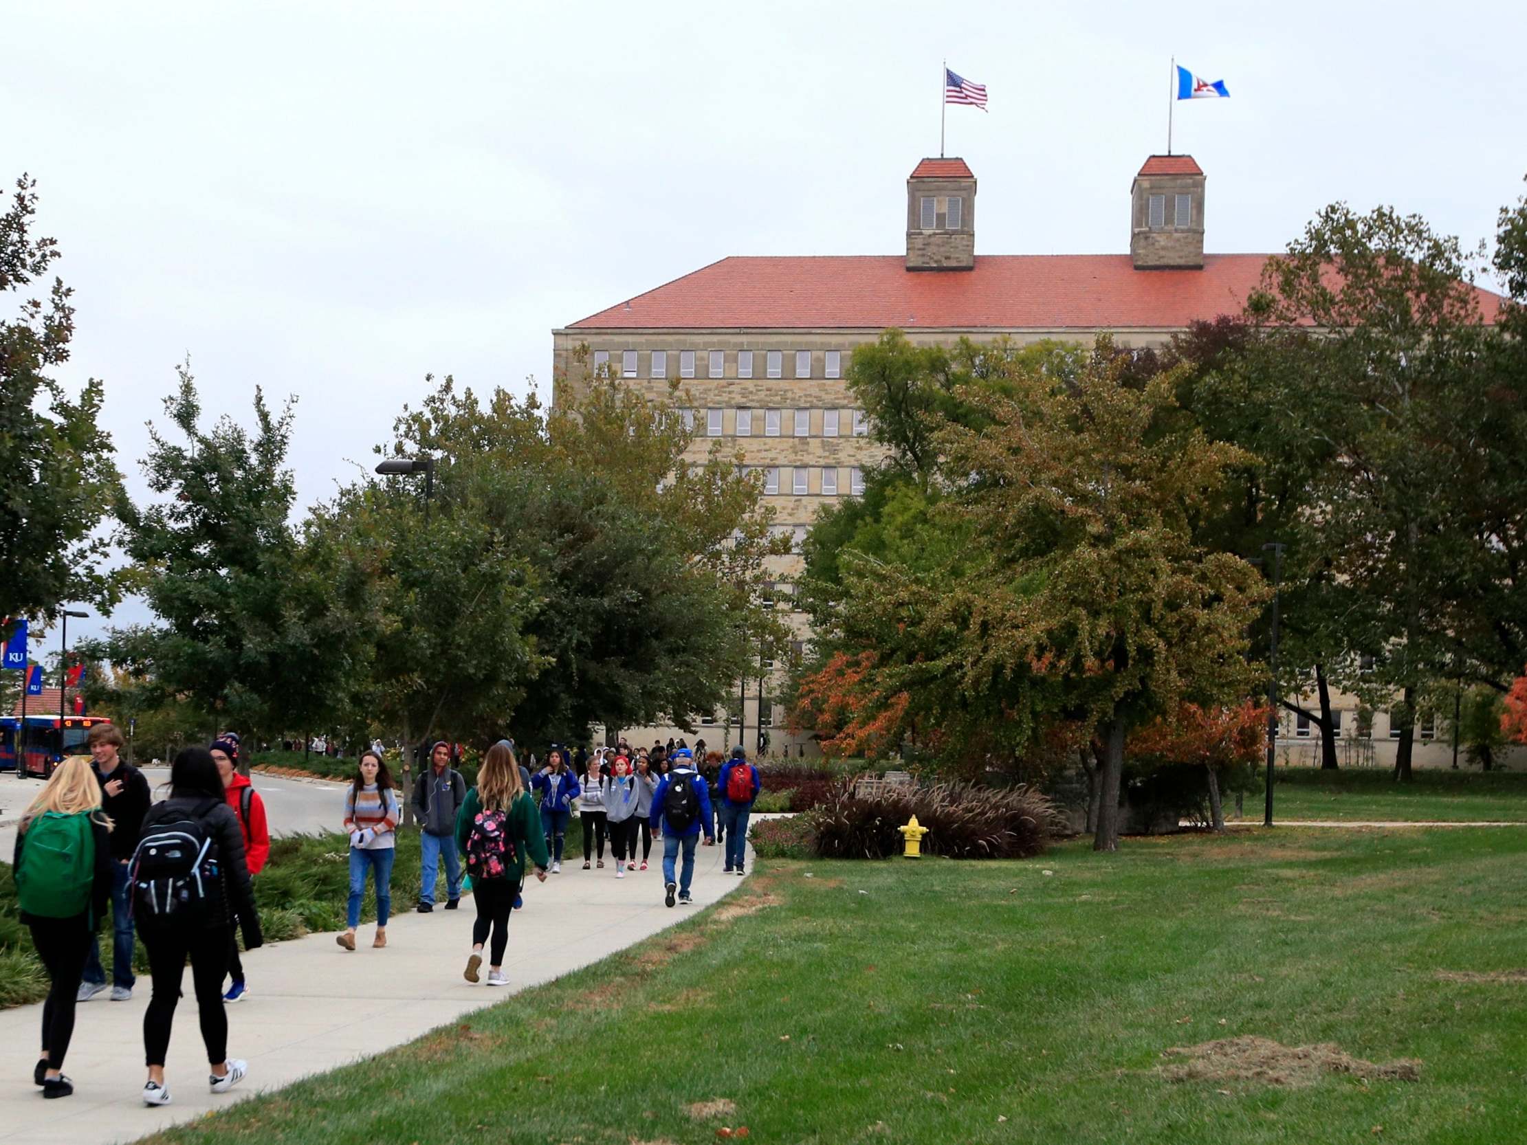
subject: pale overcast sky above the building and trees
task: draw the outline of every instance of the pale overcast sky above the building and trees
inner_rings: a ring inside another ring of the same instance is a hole
[[[0,29],[0,174],[38,180],[64,379],[104,379],[139,495],[186,354],[209,414],[299,398],[308,504],[429,371],[524,391],[554,327],[716,258],[899,253],[944,58],[989,90],[948,108],[977,256],[1128,249],[1173,55],[1232,96],[1176,113],[1211,252],[1278,250],[1338,198],[1472,244],[1527,173],[1519,0],[6,0]]]

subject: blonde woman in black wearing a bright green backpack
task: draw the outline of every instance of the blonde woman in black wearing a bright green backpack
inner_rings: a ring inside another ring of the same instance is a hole
[[[64,1076],[64,1055],[75,1032],[86,947],[95,942],[116,878],[110,831],[90,760],[70,756],[32,800],[15,835],[11,861],[20,916],[47,971],[43,1053],[32,1069],[44,1098],[75,1092]]]

